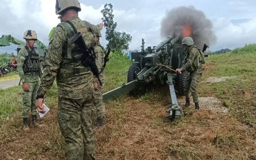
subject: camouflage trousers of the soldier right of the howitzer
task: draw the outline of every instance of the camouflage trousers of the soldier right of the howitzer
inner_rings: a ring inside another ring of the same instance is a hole
[[[186,86],[186,89],[185,89],[186,98],[189,98],[189,92],[191,92],[194,103],[198,102],[197,85],[199,84],[201,77],[202,77],[202,73],[190,72],[184,84]]]

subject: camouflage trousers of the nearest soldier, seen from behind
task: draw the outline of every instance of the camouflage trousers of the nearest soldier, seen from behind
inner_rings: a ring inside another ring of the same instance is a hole
[[[81,95],[81,92],[78,93]],[[67,146],[68,160],[95,159],[92,126],[93,93],[83,92],[83,99],[59,95],[58,119]]]

